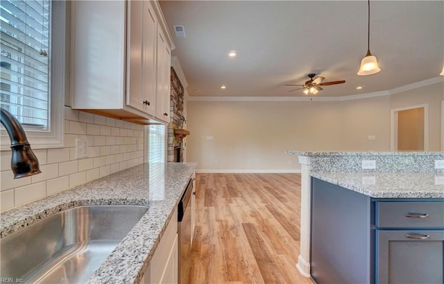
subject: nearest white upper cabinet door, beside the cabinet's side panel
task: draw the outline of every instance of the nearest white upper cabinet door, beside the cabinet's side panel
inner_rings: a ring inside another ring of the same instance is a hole
[[[142,94],[143,54],[142,1],[128,1],[126,104],[144,111]]]

